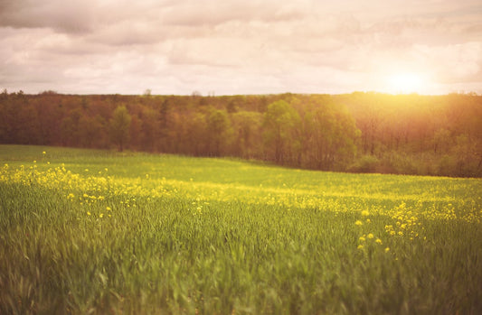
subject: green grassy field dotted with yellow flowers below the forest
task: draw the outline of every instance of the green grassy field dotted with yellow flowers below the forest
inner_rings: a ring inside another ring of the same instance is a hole
[[[0,145],[0,314],[477,314],[482,180]]]

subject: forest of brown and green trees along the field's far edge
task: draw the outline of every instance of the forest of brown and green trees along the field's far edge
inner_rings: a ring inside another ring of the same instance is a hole
[[[482,96],[0,94],[0,144],[482,177]]]

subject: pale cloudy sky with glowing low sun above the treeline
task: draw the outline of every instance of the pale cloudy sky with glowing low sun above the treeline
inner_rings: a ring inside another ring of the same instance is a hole
[[[482,93],[480,0],[0,0],[0,89]]]

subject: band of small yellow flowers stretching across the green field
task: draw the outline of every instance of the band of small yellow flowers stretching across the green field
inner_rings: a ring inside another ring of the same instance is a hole
[[[79,203],[84,208],[83,213],[90,211],[91,215],[94,213],[92,205],[98,205],[100,208],[137,208],[137,199],[178,197],[194,200],[192,207],[187,206],[191,208],[194,215],[205,214],[209,202],[232,202],[232,200],[254,206],[270,205],[291,211],[301,208],[331,211],[335,216],[340,213],[353,213],[354,209],[359,208],[362,210],[357,212],[358,218],[355,219],[354,228],[360,229],[359,236],[365,235],[365,238],[370,233],[374,235],[383,233],[380,231],[374,233],[372,222],[375,218],[377,222],[381,219],[386,220],[387,236],[403,236],[409,239],[424,237],[422,225],[424,219],[463,219],[480,223],[482,218],[480,208],[482,200],[475,197],[477,196],[475,192],[478,191],[475,185],[465,193],[460,189],[465,186],[460,184],[458,191],[462,191],[465,195],[459,197],[449,193],[447,188],[449,186],[443,185],[423,194],[417,194],[413,189],[404,190],[404,193],[400,191],[387,193],[380,190],[383,182],[367,181],[364,177],[356,178],[356,182],[353,182],[352,177],[344,179],[339,174],[327,174],[326,181],[330,180],[329,176],[333,176],[333,181],[330,181],[330,185],[317,182],[318,186],[321,185],[318,189],[317,185],[304,181],[298,183],[283,181],[285,184],[280,185],[277,179],[272,179],[263,181],[262,184],[250,185],[230,181],[165,179],[159,177],[156,172],[147,174],[143,172],[142,176],[139,175],[137,178],[115,177],[108,175],[107,168],[99,171],[95,166],[90,166],[90,170],[83,166],[80,170],[79,173],[67,171],[63,164],[59,167],[50,167],[49,164],[43,165],[43,163],[31,163],[31,165],[19,167],[5,164],[0,168],[0,181],[61,190],[66,199]],[[399,177],[397,181],[401,181],[402,184],[406,181],[407,185],[410,185],[413,179]],[[425,181],[425,179],[417,181]],[[450,186],[449,189],[454,189],[456,185],[458,181],[454,181],[454,186]],[[395,202],[399,206],[386,206]],[[104,212],[103,217],[105,218],[107,214],[108,212]],[[376,239],[377,237],[374,237],[374,244],[388,243],[388,240],[383,237],[379,238],[380,242],[376,242]],[[365,242],[367,241],[368,238]]]

